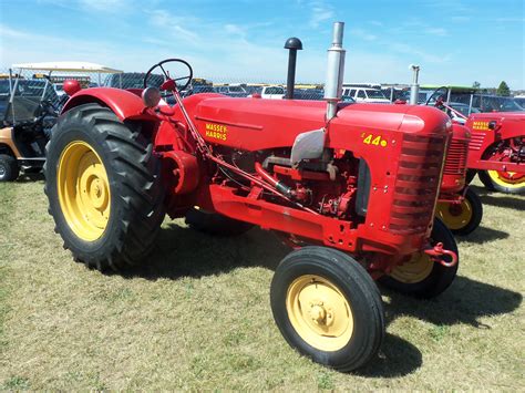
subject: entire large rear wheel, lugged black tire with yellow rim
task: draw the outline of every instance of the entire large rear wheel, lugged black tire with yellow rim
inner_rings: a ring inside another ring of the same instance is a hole
[[[99,270],[144,261],[164,218],[164,189],[140,125],[80,105],[59,118],[47,156],[49,211],[75,260]]]

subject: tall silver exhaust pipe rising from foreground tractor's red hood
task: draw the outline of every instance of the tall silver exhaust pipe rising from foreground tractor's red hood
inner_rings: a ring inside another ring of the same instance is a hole
[[[342,35],[344,22],[333,23],[332,45],[328,49],[327,83],[325,84],[325,100],[327,101],[327,121],[337,114],[337,104],[342,97],[342,80],[344,76],[344,53]]]

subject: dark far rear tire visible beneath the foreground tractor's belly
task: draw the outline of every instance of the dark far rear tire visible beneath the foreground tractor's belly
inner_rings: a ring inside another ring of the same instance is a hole
[[[216,236],[238,236],[254,227],[253,224],[194,207],[186,213],[186,224],[192,229]]]

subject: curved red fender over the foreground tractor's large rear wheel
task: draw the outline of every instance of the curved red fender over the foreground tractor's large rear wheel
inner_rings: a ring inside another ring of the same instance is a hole
[[[144,112],[140,91],[126,91],[113,87],[93,87],[81,90],[68,100],[61,114],[72,110],[75,106],[99,103],[110,107],[121,120],[147,120],[157,122],[158,118]]]

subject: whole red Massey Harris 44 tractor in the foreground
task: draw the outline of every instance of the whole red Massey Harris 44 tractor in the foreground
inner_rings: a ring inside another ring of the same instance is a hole
[[[119,270],[146,261],[165,213],[223,234],[272,230],[295,248],[270,287],[285,339],[337,370],[367,363],[385,329],[374,279],[430,298],[456,275],[456,244],[434,219],[452,124],[433,107],[341,103],[342,29],[328,51],[327,103],[183,101],[193,76],[183,60],[147,72],[145,87],[163,72],[159,89],[64,86],[72,96],[45,164],[64,246]]]

